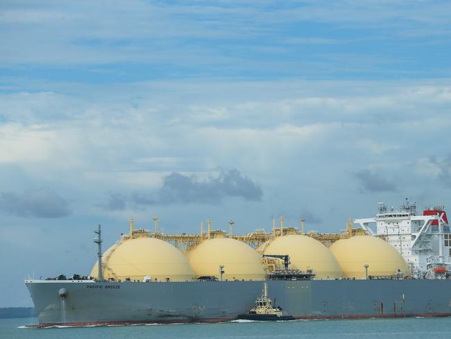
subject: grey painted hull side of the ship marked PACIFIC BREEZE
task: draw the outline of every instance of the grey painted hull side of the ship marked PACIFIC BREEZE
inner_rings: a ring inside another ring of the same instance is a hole
[[[40,324],[214,322],[248,311],[263,281],[26,281]],[[62,301],[60,288],[67,290]],[[451,315],[451,280],[268,281],[298,319]]]

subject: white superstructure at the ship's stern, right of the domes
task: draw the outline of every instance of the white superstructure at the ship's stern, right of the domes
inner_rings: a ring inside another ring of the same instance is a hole
[[[417,215],[416,204],[408,199],[399,210],[387,209],[381,202],[375,217],[355,223],[398,250],[412,276],[442,278],[451,271],[451,234],[443,206],[427,208],[423,215]]]

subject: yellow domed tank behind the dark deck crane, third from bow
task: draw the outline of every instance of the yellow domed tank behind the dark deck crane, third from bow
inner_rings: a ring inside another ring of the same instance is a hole
[[[288,254],[290,268],[311,269],[315,278],[334,279],[341,277],[337,259],[321,242],[306,235],[284,235],[275,238],[264,250],[264,254]]]

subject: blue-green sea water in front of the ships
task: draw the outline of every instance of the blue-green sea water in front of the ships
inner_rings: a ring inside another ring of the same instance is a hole
[[[451,338],[451,317],[298,320],[28,329],[35,319],[0,319],[0,338]]]

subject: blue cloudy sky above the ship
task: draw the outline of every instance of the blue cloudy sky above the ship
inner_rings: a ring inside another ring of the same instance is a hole
[[[0,307],[135,228],[451,206],[451,3],[0,1]]]

